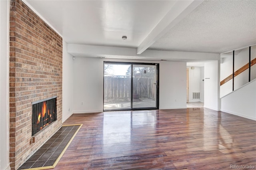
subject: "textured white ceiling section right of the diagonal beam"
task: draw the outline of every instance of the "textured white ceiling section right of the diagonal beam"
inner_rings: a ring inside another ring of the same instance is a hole
[[[256,1],[204,1],[150,49],[224,53],[256,44]]]

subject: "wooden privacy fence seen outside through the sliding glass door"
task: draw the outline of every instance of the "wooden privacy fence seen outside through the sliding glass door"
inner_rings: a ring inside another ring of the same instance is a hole
[[[153,78],[134,78],[133,99],[155,100],[156,85]],[[130,99],[130,77],[104,77],[104,99]]]

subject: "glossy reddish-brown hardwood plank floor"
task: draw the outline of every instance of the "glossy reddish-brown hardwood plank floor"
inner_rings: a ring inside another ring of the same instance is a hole
[[[256,121],[227,113],[116,111],[72,115],[64,125],[75,123],[83,126],[54,170],[256,169]]]

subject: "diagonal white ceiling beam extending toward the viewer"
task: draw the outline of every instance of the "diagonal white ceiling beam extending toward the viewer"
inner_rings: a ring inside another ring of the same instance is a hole
[[[158,22],[155,28],[146,36],[137,48],[137,54],[143,53],[156,40],[161,38],[173,26],[199,6],[203,0],[177,0],[169,12]]]

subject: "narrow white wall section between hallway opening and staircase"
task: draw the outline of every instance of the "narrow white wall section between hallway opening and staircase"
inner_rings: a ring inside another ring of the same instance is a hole
[[[220,109],[219,63],[217,60],[204,63],[204,107],[215,111]]]

